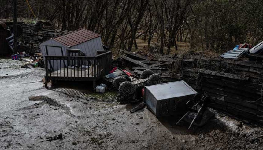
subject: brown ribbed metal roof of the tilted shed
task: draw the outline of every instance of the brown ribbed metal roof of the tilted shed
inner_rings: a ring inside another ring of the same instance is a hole
[[[64,35],[57,36],[53,38],[55,41],[60,42],[65,46],[72,47],[74,45],[78,45],[80,43],[86,42],[93,38],[100,37],[101,35],[87,29],[81,28]]]

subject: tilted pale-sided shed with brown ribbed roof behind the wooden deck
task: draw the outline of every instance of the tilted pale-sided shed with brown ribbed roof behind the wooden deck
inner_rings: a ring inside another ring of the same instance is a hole
[[[101,35],[84,28],[51,38],[41,43],[40,49],[44,60],[45,56],[67,56],[67,49],[80,49],[85,56],[104,50]]]

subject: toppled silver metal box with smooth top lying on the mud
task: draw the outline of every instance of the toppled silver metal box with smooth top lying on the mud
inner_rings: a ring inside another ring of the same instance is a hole
[[[184,81],[145,86],[144,101],[156,117],[182,113],[197,92]]]

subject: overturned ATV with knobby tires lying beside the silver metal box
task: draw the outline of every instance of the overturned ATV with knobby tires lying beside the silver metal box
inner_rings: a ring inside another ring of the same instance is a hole
[[[145,70],[147,72],[153,73],[152,71]],[[141,75],[141,79],[129,82],[125,81],[122,82],[119,86],[119,101],[132,101],[135,100],[137,97],[141,97],[141,91],[144,88],[144,86],[150,86],[150,85],[155,85],[155,84],[161,84],[162,79],[161,75],[159,74],[152,74],[149,75]],[[148,77],[147,77],[148,76]],[[144,78],[144,79],[142,79]]]

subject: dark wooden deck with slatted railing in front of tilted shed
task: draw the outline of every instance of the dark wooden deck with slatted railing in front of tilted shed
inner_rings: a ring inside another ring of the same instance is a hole
[[[45,86],[48,80],[96,81],[111,69],[111,51],[97,51],[90,56],[45,56]]]

